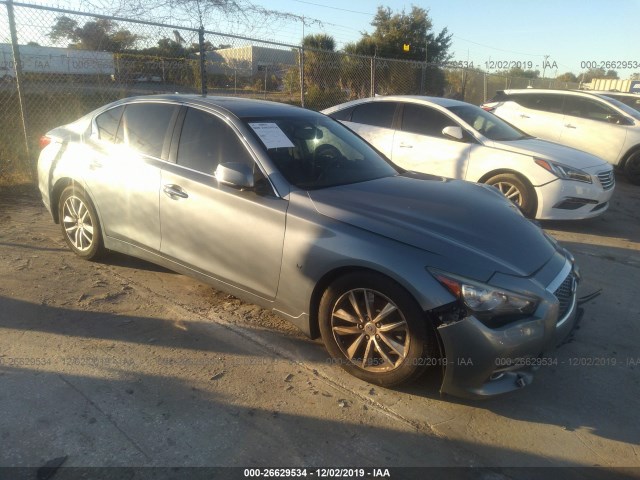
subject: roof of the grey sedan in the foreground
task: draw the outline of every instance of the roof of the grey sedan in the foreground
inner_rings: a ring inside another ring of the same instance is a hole
[[[257,100],[252,98],[222,97],[222,96],[202,96],[196,94],[160,94],[141,95],[127,97],[115,102],[115,104],[136,103],[144,101],[160,101],[171,103],[186,103],[189,105],[200,105],[203,107],[214,107],[226,110],[236,117],[268,117],[268,116],[297,116],[313,115],[316,112],[307,110],[295,105],[286,103],[269,102],[267,100]],[[115,105],[114,104],[114,105]]]

